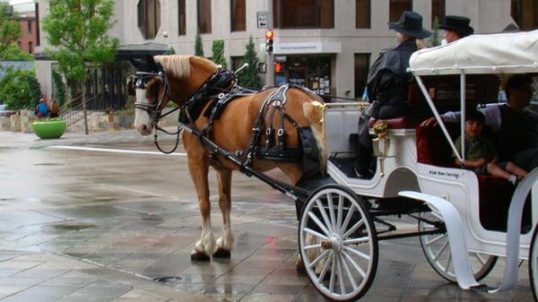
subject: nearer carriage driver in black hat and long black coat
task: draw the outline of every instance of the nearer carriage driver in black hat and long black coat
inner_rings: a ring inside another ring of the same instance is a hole
[[[416,39],[430,37],[428,30],[422,29],[422,17],[418,13],[405,11],[398,22],[388,23],[388,28],[396,31],[400,42],[395,48],[386,49],[377,58],[368,74],[369,107],[359,118],[359,137],[355,173],[357,177],[373,175],[372,139],[369,135],[369,118],[394,118],[408,114],[407,89],[412,79],[407,72],[409,57],[417,50]]]

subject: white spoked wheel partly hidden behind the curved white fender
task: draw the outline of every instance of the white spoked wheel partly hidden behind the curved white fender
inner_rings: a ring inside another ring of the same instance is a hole
[[[421,213],[421,218],[424,220],[435,221],[437,224],[443,224],[441,216],[434,211]],[[434,229],[436,229],[436,227],[431,223],[419,220],[419,231],[430,231]],[[456,273],[452,261],[452,253],[450,252],[447,232],[422,235],[419,238],[422,251],[431,267],[433,267],[433,269],[444,279],[456,283]],[[497,256],[469,252],[469,261],[473,269],[474,279],[482,280],[485,278],[488,273],[491,272],[495,263],[497,263],[497,259]]]

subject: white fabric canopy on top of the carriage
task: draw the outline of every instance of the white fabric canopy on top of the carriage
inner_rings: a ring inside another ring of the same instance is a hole
[[[537,73],[538,30],[473,35],[412,54],[414,75]]]

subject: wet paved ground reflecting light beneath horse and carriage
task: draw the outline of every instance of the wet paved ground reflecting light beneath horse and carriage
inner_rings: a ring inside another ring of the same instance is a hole
[[[134,131],[48,141],[0,132],[0,302],[325,301],[295,272],[295,205],[237,172],[231,258],[191,262],[201,220],[186,157],[155,151],[152,137]],[[216,188],[213,172],[210,183]],[[360,301],[532,301],[526,262],[516,289],[486,294],[438,276],[417,238],[382,242],[379,251]],[[499,261],[485,282],[497,284],[503,269]]]

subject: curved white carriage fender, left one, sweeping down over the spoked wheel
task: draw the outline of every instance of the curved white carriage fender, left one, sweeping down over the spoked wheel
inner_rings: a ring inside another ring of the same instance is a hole
[[[434,211],[441,216],[447,227],[448,241],[450,243],[452,259],[454,261],[457,284],[462,289],[471,289],[480,286],[480,284],[474,280],[471,263],[469,263],[467,244],[465,242],[465,237],[462,236],[464,234],[464,225],[456,207],[446,199],[429,194],[413,191],[401,191],[398,194],[427,203],[431,211]]]

